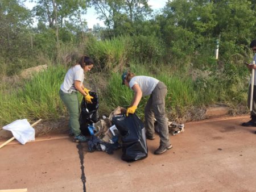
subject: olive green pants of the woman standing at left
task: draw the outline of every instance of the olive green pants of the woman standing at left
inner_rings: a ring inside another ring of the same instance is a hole
[[[60,90],[59,94],[61,100],[68,109],[69,128],[71,128],[75,136],[78,136],[81,133],[81,131],[79,124],[80,107],[77,92],[72,91],[72,93],[64,93]]]

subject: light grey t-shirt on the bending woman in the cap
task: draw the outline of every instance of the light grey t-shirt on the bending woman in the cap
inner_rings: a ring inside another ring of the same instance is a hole
[[[156,80],[154,77],[148,76],[135,76],[131,78],[129,82],[130,89],[135,85],[138,84],[141,87],[142,95],[150,95],[152,91],[155,89],[155,86],[158,84],[159,80]]]

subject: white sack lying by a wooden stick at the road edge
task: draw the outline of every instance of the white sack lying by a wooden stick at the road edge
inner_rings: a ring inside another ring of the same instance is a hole
[[[13,123],[7,124],[3,129],[11,131],[15,139],[23,145],[28,141],[35,140],[35,130],[28,123],[27,119],[15,120]]]

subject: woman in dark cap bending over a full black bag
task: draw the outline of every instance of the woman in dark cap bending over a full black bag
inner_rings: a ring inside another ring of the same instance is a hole
[[[166,152],[172,148],[169,140],[168,121],[165,112],[165,98],[167,87],[163,82],[148,76],[135,76],[134,73],[125,72],[122,74],[123,85],[134,91],[134,98],[131,106],[127,108],[126,115],[133,114],[143,96],[150,95],[144,108],[145,127],[147,139],[155,139],[154,116],[159,126],[160,146],[154,152],[155,155]]]

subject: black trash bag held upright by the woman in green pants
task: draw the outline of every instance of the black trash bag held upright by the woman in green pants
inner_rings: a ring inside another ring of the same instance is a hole
[[[90,135],[88,130],[88,126],[92,123],[98,122],[99,115],[98,115],[98,95],[93,92],[89,91],[89,94],[93,97],[92,103],[86,103],[85,98],[82,98],[81,101],[81,113],[79,117],[79,124],[80,130],[82,135]]]

